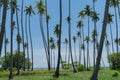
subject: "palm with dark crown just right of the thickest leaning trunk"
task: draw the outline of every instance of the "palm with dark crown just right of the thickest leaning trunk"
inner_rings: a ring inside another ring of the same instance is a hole
[[[111,26],[111,23],[113,22],[113,20],[112,20],[112,17],[113,17],[114,15],[112,15],[112,14],[108,14],[108,24],[109,24],[109,27],[110,27],[110,34],[111,34],[111,43],[112,43],[112,53],[114,53],[114,45],[113,45],[113,33],[112,33],[112,26]]]

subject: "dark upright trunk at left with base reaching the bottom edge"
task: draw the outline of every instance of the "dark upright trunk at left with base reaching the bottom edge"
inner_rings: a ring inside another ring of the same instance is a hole
[[[13,8],[12,8],[12,0],[11,0],[11,32],[10,32],[10,74],[9,74],[9,80],[13,79]]]

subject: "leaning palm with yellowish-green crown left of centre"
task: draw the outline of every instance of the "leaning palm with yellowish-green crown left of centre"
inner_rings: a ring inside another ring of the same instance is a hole
[[[43,14],[45,12],[45,5],[43,4],[43,0],[40,0],[40,2],[37,2],[36,7],[38,9],[39,13],[39,20],[40,20],[40,30],[41,30],[41,35],[42,35],[42,40],[45,48],[45,53],[46,53],[46,58],[47,58],[47,63],[48,63],[48,70],[50,69],[50,63],[49,63],[49,55],[48,55],[48,45],[46,42],[44,30],[43,30]]]

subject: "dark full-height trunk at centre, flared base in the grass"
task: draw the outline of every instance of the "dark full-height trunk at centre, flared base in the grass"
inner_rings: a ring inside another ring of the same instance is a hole
[[[60,1],[60,34],[58,39],[58,62],[54,77],[59,77],[60,57],[61,57],[61,30],[62,30],[62,0]]]

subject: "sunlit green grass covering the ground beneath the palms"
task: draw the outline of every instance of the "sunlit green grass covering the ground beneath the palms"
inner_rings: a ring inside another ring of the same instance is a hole
[[[100,70],[98,80],[120,80],[120,74],[116,77],[112,76],[115,72],[109,69]],[[8,71],[0,72],[0,80],[8,80],[8,74]],[[61,70],[59,78],[53,78],[53,74],[54,71],[47,70],[26,71],[21,72],[20,76],[14,76],[13,80],[90,80],[92,71],[73,73],[69,70]]]

